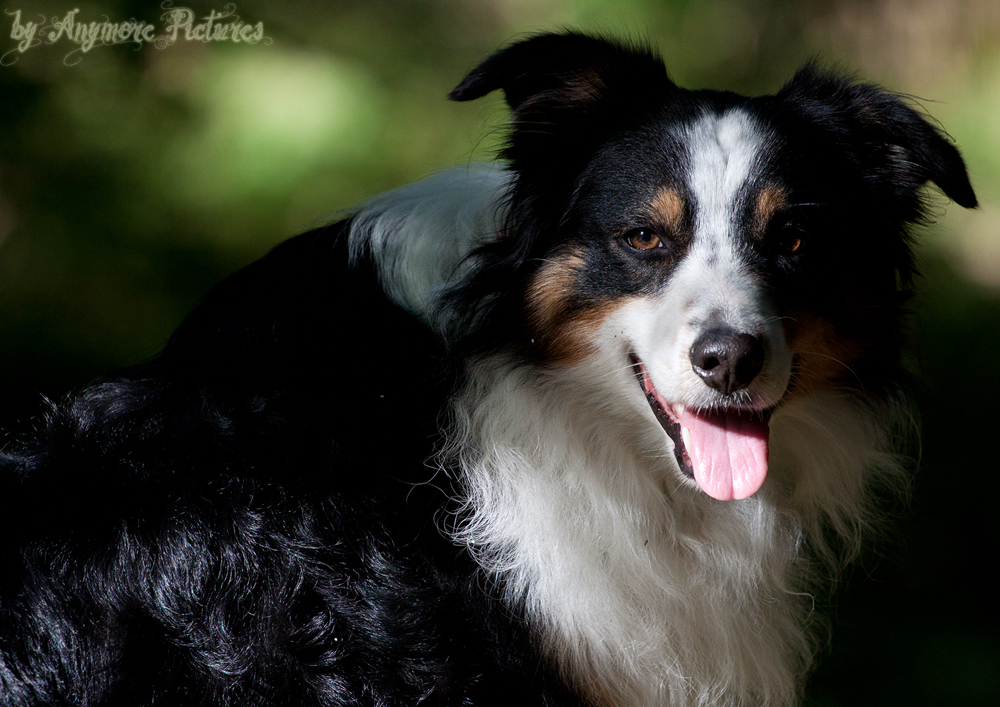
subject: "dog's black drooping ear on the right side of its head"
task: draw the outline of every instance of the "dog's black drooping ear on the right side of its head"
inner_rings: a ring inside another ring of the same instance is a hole
[[[857,153],[873,186],[916,200],[931,181],[961,206],[977,205],[958,150],[898,95],[808,65],[778,98],[826,129],[838,148]]]

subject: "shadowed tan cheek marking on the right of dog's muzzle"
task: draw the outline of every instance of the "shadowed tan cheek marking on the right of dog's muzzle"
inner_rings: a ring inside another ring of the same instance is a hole
[[[797,311],[785,321],[796,366],[791,394],[858,384],[852,368],[865,354],[864,345],[837,336],[829,321],[809,312]]]

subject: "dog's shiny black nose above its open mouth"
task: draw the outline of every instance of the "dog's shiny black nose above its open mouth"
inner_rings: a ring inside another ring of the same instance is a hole
[[[764,342],[753,334],[710,329],[691,347],[691,366],[706,385],[729,395],[750,385],[764,367]]]

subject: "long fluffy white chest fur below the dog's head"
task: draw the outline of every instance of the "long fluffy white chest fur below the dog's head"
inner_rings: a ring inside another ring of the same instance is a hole
[[[446,452],[467,485],[455,537],[604,701],[793,704],[813,653],[803,546],[827,552],[824,524],[862,529],[870,472],[896,469],[886,427],[850,397],[793,401],[765,488],[723,503],[677,478],[662,433],[600,394],[609,382],[480,365]]]

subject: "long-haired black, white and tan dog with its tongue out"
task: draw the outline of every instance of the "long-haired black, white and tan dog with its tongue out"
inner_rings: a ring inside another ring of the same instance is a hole
[[[215,289],[0,455],[3,705],[790,705],[902,476],[898,96],[541,35],[502,164]]]

